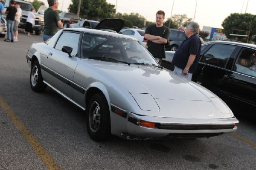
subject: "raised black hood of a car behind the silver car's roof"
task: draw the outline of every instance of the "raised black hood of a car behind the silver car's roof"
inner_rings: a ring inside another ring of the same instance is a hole
[[[119,32],[124,26],[125,21],[118,18],[107,18],[99,22],[94,29],[111,29]]]

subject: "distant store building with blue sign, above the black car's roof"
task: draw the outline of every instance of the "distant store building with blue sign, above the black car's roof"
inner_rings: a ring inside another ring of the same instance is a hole
[[[223,33],[223,29],[219,28],[212,28],[210,26],[203,26],[202,31],[209,32],[208,37],[206,37],[209,40],[226,40],[227,37]]]

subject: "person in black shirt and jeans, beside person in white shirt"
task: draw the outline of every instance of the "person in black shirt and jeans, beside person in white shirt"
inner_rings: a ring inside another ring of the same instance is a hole
[[[6,22],[7,22],[7,39],[5,39],[4,41],[6,42],[12,42],[13,43],[13,25],[14,25],[14,20],[15,20],[15,15],[17,13],[17,9],[15,8],[15,1],[11,0],[11,6],[9,6],[6,9],[7,14],[6,16]],[[11,38],[10,38],[10,34],[11,34]]]

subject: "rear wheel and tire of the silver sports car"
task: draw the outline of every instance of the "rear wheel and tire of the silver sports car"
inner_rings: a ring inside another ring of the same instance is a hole
[[[35,61],[31,66],[30,86],[34,92],[43,92],[47,87],[47,85],[43,82],[43,77],[38,61]]]

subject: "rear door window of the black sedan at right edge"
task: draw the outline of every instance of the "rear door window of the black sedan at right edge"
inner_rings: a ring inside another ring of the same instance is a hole
[[[242,49],[233,67],[233,71],[256,77],[256,51]]]

